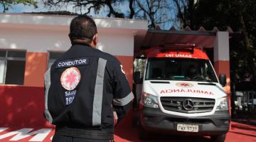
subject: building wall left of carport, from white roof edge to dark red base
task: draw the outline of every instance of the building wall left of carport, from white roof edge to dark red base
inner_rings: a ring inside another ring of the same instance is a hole
[[[43,118],[43,75],[48,68],[49,52],[70,48],[72,18],[0,13],[0,50],[26,50],[23,85],[0,85],[0,126],[53,127]],[[95,18],[95,23],[100,39],[97,48],[122,63],[132,87],[134,36],[146,34],[146,21]],[[131,117],[122,125],[130,126]]]

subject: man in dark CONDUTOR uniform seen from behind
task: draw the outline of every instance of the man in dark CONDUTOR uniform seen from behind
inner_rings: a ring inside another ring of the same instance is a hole
[[[113,141],[134,98],[122,65],[95,48],[92,18],[73,18],[69,37],[72,47],[45,75],[44,115],[56,126],[53,141]]]

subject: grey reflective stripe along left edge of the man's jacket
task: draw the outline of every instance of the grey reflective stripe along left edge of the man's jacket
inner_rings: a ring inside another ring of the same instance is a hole
[[[49,92],[49,89],[50,89],[50,68],[46,71],[46,74],[44,75],[44,80],[45,80],[45,87],[46,87],[46,90],[45,90],[45,116],[46,116],[46,119],[52,123],[53,122],[53,117],[50,115],[50,111],[48,110],[48,92]]]

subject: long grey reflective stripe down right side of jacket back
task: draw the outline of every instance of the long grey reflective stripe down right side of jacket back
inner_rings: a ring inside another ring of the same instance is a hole
[[[99,58],[95,82],[95,94],[93,99],[92,126],[101,125],[103,81],[106,64],[107,60]]]

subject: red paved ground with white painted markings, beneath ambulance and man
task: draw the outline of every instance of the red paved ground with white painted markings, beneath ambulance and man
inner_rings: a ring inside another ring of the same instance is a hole
[[[50,142],[54,134],[53,128],[14,128],[0,126],[0,142]],[[146,142],[139,139],[139,131],[134,128],[118,128],[114,133],[116,142]],[[209,137],[171,136],[152,134],[148,142],[208,142]],[[228,132],[225,142],[256,142],[256,126],[232,122],[232,129]]]

